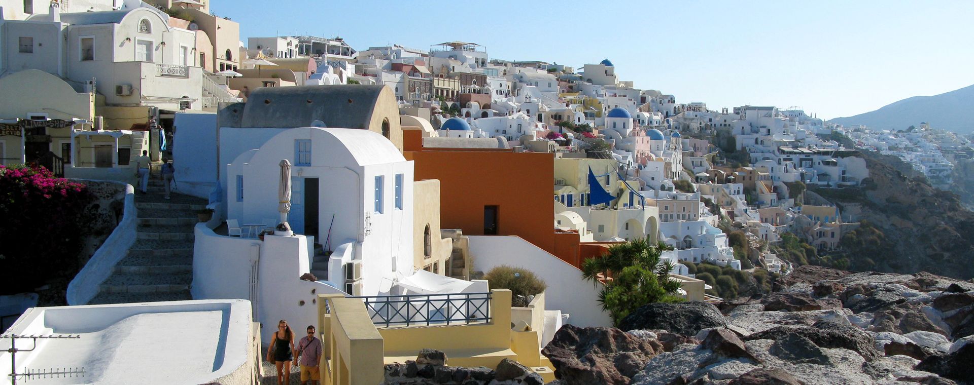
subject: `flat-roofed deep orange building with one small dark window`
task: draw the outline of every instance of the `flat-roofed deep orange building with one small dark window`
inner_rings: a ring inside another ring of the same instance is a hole
[[[509,149],[423,148],[403,130],[416,180],[440,181],[440,225],[467,235],[518,235],[555,254],[552,154]]]

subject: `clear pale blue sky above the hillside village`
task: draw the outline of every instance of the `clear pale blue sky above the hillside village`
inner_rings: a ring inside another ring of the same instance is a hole
[[[356,50],[461,40],[491,58],[610,58],[636,88],[798,106],[831,119],[974,84],[974,1],[212,0],[247,37],[338,34]],[[274,4],[273,8],[268,4]]]

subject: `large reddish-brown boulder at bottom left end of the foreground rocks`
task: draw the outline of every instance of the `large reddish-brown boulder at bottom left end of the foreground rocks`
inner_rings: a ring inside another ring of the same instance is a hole
[[[554,334],[542,354],[565,384],[628,384],[646,362],[663,352],[648,333],[623,333],[615,328],[565,325]]]

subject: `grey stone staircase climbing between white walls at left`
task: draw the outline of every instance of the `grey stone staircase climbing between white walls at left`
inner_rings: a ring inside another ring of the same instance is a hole
[[[165,199],[162,181],[150,181],[148,193],[135,192],[138,235],[90,303],[128,303],[192,299],[193,227],[206,199],[172,193]]]

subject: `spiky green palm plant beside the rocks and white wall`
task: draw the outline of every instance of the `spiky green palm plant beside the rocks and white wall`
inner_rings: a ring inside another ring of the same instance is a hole
[[[617,325],[640,306],[653,302],[679,302],[680,281],[670,279],[673,262],[660,262],[662,252],[673,250],[663,242],[636,239],[609,248],[602,258],[581,262],[581,277],[596,284],[605,280],[599,293],[602,310]]]

